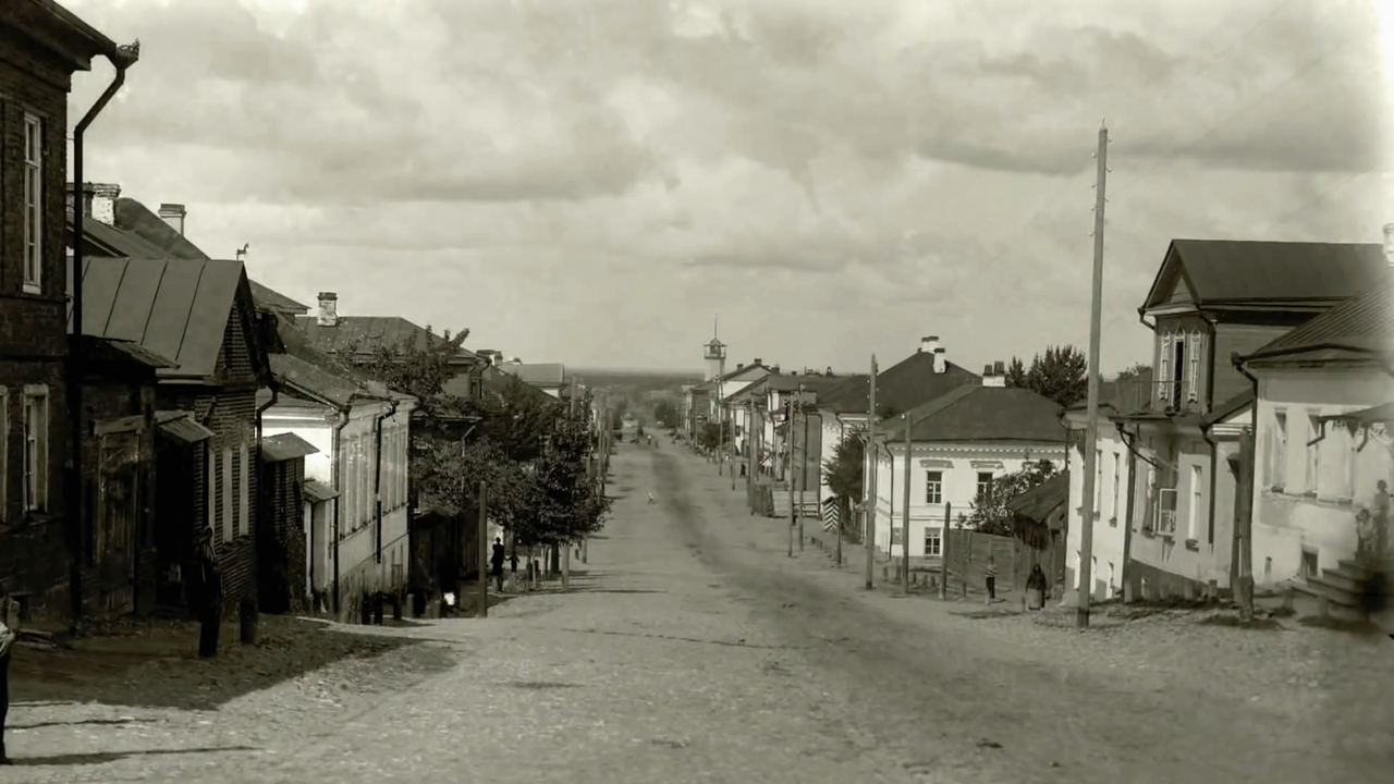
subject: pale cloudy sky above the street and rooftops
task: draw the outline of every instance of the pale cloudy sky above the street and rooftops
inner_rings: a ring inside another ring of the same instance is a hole
[[[1394,219],[1386,0],[66,4],[141,40],[89,179],[526,361],[700,368],[718,312],[785,367],[1083,347],[1104,119],[1105,371],[1171,237]]]

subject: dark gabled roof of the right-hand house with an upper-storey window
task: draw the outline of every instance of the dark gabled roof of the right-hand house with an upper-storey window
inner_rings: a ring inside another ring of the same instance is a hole
[[[1369,289],[1386,266],[1384,247],[1373,243],[1172,240],[1139,310],[1330,306]]]

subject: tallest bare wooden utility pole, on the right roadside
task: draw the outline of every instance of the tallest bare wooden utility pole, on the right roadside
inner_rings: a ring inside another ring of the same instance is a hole
[[[1098,181],[1094,183],[1094,285],[1089,303],[1089,398],[1085,420],[1085,487],[1079,526],[1079,607],[1075,625],[1089,626],[1089,598],[1094,587],[1090,559],[1094,554],[1094,473],[1098,470],[1098,343],[1104,308],[1104,195],[1108,183],[1108,126],[1098,128]],[[1131,523],[1129,523],[1131,525]]]

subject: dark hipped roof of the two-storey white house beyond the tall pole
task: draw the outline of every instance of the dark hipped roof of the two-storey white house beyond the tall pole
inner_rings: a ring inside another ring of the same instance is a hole
[[[882,423],[889,444],[903,439],[905,423],[914,423],[910,441],[1065,441],[1061,407],[1030,389],[959,386]]]

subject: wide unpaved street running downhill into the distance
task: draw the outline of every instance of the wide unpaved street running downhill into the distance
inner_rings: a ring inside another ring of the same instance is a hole
[[[1359,706],[1337,686],[1269,704],[1144,660],[1097,667],[867,594],[815,547],[788,558],[785,525],[675,445],[623,445],[613,470],[622,498],[572,593],[372,631],[429,640],[453,668],[371,699],[326,698],[321,671],[206,713],[20,704],[13,724],[89,723],[13,735],[18,762],[92,759],[0,783],[1386,780],[1391,725],[1347,721]]]

